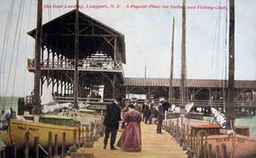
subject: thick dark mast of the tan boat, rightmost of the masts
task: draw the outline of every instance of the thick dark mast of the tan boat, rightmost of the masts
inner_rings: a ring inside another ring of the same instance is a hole
[[[234,125],[234,99],[235,99],[235,2],[229,0],[229,79],[227,85],[227,129]]]

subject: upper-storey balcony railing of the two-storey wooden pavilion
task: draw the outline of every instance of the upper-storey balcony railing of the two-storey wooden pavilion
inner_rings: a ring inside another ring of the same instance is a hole
[[[35,60],[27,59],[27,67],[35,68]],[[41,68],[59,68],[59,69],[74,69],[75,60],[47,60],[41,61]],[[103,70],[122,70],[122,62],[112,60],[78,60],[78,69],[103,69]]]

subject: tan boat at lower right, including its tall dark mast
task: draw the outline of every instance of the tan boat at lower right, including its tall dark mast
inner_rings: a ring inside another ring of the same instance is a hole
[[[206,141],[212,146],[212,156],[218,156],[220,151],[229,158],[244,158],[256,155],[256,138],[250,137],[250,128],[245,126],[234,126],[235,114],[233,113],[234,105],[234,58],[235,58],[235,2],[229,1],[229,78],[228,78],[228,96],[226,107],[226,119],[221,114],[217,114],[219,125],[197,125],[191,126],[191,133],[197,138],[204,133],[199,142],[205,145]],[[217,112],[214,108],[211,111]],[[222,117],[222,118],[221,118]],[[225,129],[226,128],[226,129]],[[205,148],[205,146],[202,146]],[[224,151],[224,148],[226,151]],[[197,156],[203,156],[200,153],[200,147],[197,147]],[[218,148],[218,149],[217,149]],[[207,149],[207,147],[206,147]],[[219,151],[219,152],[217,152]],[[205,156],[205,155],[204,155]]]

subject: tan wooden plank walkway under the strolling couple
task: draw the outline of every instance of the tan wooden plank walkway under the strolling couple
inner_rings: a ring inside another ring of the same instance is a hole
[[[110,150],[108,142],[107,149],[103,149],[104,137],[95,141],[93,148],[82,147],[78,153],[93,153],[95,158],[187,158],[186,151],[173,140],[172,135],[156,134],[156,125],[145,125],[141,123],[142,129],[142,151],[125,152],[118,148]],[[164,130],[163,130],[164,131]],[[121,132],[118,132],[116,142],[119,140]],[[109,140],[110,141],[110,138]]]

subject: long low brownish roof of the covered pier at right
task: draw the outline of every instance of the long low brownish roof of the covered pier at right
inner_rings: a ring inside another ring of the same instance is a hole
[[[181,79],[173,79],[173,87],[179,87]],[[169,78],[125,78],[124,86],[169,87]],[[187,79],[187,87],[227,87],[225,80]],[[235,88],[256,89],[256,81],[236,80]]]

